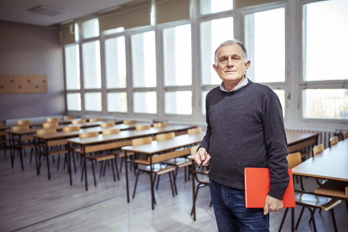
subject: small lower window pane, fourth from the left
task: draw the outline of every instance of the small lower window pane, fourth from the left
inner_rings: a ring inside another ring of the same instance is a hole
[[[156,92],[135,92],[133,94],[133,105],[135,113],[157,113]]]

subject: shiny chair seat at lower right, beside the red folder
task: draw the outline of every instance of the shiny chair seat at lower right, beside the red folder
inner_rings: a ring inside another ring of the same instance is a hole
[[[295,201],[297,203],[303,203],[309,206],[322,208],[325,211],[329,211],[330,209],[341,203],[341,200],[338,199],[320,197],[305,193],[295,194]]]

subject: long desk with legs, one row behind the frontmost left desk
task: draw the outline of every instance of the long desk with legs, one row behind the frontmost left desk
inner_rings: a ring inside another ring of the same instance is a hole
[[[115,125],[116,127],[117,125]],[[144,136],[154,136],[157,134],[162,134],[162,133],[169,133],[169,132],[179,132],[179,133],[186,133],[186,131],[190,128],[193,128],[195,126],[188,126],[188,125],[168,125],[166,127],[160,127],[160,128],[153,128],[151,127],[150,129],[147,130],[140,130],[140,131],[135,131],[135,130],[124,130],[124,131],[120,131],[120,133],[118,134],[112,134],[112,135],[98,135],[96,137],[89,137],[89,138],[71,138],[71,139],[67,139],[68,142],[68,160],[69,160],[69,168],[71,167],[71,161],[70,161],[70,145],[72,144],[76,144],[81,146],[81,149],[83,151],[83,155],[85,156],[86,153],[86,147],[87,146],[93,146],[93,145],[100,145],[100,144],[105,144],[108,142],[116,142],[116,141],[122,141],[122,140],[126,140],[124,142],[126,142],[127,144],[121,145],[122,146],[126,146],[128,144],[131,144],[130,139],[133,138],[137,138],[137,137],[144,137]],[[106,129],[106,128],[105,128]],[[120,143],[121,144],[121,143]],[[113,147],[116,148],[116,147]],[[103,149],[103,148],[101,148]],[[104,150],[109,150],[110,148],[105,148]],[[102,151],[102,150],[98,150],[98,151]],[[125,160],[127,160],[127,157],[125,157]],[[86,165],[86,160],[84,159],[84,165]],[[127,163],[126,163],[126,174],[127,174]],[[85,166],[86,167],[86,166]],[[72,185],[72,179],[71,179],[71,170],[69,171],[70,173],[70,185]],[[128,176],[127,176],[128,179]],[[85,168],[85,184],[86,184],[86,191],[88,190],[88,185],[87,185],[87,169]]]

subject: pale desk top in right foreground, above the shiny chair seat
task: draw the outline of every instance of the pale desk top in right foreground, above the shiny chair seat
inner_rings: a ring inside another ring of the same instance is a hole
[[[294,167],[292,173],[348,182],[348,150],[327,148]]]

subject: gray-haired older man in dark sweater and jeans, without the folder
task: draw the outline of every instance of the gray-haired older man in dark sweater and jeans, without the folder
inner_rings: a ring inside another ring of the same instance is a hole
[[[268,212],[283,208],[290,176],[282,106],[272,89],[248,80],[244,45],[228,40],[213,68],[222,83],[206,97],[207,132],[195,161],[209,165],[210,193],[219,232],[269,231]],[[244,168],[270,169],[264,208],[245,208]]]

